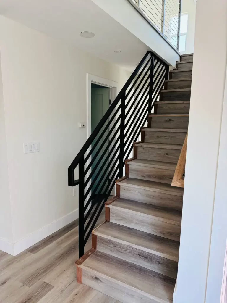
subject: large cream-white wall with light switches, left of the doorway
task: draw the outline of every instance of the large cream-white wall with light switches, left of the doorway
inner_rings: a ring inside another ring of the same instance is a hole
[[[77,217],[67,168],[87,139],[86,128],[78,128],[87,121],[86,74],[121,88],[129,72],[5,17],[0,48],[16,243],[62,217]],[[40,152],[24,155],[23,143],[33,141]]]

